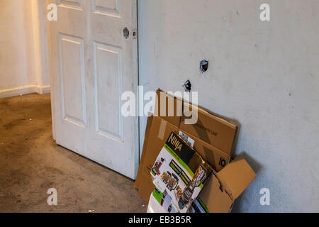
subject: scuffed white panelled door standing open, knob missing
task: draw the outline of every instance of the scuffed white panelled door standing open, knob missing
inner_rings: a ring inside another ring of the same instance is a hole
[[[138,85],[136,0],[57,0],[50,22],[57,144],[135,179],[138,120],[121,94]],[[128,28],[128,37],[123,30]]]

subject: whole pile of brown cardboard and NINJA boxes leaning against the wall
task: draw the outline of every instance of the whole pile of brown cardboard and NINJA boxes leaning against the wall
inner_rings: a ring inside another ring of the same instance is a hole
[[[174,114],[170,115],[168,115],[169,101],[174,103],[175,110]],[[166,113],[162,111],[164,107],[166,107]],[[198,110],[198,121],[195,124],[187,124],[186,120],[189,117],[186,116],[189,116],[189,113],[186,113],[186,110],[193,108]],[[135,182],[135,188],[145,201],[150,200],[151,204],[157,201],[161,207],[161,209],[149,208],[149,210],[153,212],[229,212],[235,199],[256,177],[243,157],[238,156],[232,160],[237,135],[236,124],[161,90],[157,90],[155,113],[159,114],[147,119],[142,157]],[[180,143],[188,147],[186,150],[194,150],[194,154],[201,157],[197,162],[193,161],[196,165],[184,162],[185,157],[179,151],[166,153],[169,150],[168,140],[172,135],[176,138],[174,144]],[[166,158],[161,157],[160,153],[166,155]],[[211,167],[211,171],[207,172],[208,175],[212,172],[210,176],[207,176],[206,180],[199,179],[200,182],[198,179],[191,179],[198,174],[198,167],[203,166]],[[187,175],[188,179],[181,180],[183,175]],[[169,182],[168,179],[171,181]],[[191,183],[194,185],[191,186]],[[191,196],[185,196],[187,190],[191,192],[188,193]],[[183,203],[181,199],[183,193],[186,203]]]

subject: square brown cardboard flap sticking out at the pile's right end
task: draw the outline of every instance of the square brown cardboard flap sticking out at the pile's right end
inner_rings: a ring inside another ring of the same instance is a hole
[[[256,174],[242,156],[237,156],[233,162],[217,173],[217,177],[231,198],[235,200],[250,185]]]

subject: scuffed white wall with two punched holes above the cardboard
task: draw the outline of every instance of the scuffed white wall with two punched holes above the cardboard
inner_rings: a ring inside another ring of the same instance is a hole
[[[271,20],[259,20],[259,6]],[[139,1],[140,85],[181,90],[240,122],[257,179],[233,211],[319,211],[319,1]],[[200,60],[210,61],[199,72]],[[141,141],[145,118],[142,118]],[[141,144],[142,145],[142,144]],[[269,188],[270,206],[259,190]]]

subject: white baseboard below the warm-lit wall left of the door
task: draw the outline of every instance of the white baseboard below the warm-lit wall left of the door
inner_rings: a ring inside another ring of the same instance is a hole
[[[0,90],[0,98],[19,96],[23,94],[47,94],[50,93],[50,85],[49,86],[40,86],[40,85],[27,85],[22,87],[15,87],[12,89]]]

